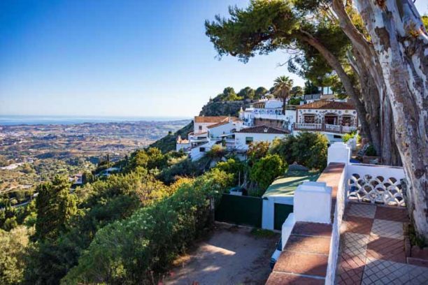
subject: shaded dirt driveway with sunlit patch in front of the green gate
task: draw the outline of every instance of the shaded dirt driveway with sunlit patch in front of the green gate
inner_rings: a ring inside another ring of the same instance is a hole
[[[217,224],[206,240],[176,261],[164,284],[264,284],[279,234],[258,237],[250,228]]]

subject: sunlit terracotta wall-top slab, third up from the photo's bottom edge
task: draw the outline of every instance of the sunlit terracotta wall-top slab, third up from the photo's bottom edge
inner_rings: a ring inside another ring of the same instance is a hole
[[[330,240],[330,238],[325,237],[290,235],[284,250],[328,255],[330,251]]]

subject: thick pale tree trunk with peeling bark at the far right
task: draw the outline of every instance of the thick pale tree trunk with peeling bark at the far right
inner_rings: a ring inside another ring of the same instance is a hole
[[[382,66],[418,233],[428,238],[428,35],[409,0],[357,0]]]

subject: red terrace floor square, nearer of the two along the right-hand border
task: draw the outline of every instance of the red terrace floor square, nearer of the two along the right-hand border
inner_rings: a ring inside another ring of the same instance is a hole
[[[366,252],[368,260],[383,259],[385,261],[406,263],[404,240],[371,236]]]

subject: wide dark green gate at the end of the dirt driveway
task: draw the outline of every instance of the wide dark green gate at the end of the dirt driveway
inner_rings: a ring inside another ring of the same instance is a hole
[[[215,209],[215,220],[261,228],[262,207],[262,198],[223,194]]]

